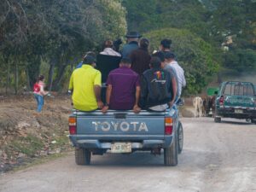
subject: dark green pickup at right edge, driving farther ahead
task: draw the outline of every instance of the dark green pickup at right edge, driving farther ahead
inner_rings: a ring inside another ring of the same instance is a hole
[[[221,118],[251,119],[256,123],[256,90],[252,83],[227,81],[220,84],[215,101],[215,122]]]

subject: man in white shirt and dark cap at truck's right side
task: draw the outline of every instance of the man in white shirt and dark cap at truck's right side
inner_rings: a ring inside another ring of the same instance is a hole
[[[174,68],[177,75],[177,97],[180,97],[182,94],[182,88],[186,86],[186,79],[184,76],[184,70],[180,65],[178,65],[177,61],[175,61],[175,55],[172,52],[166,52],[166,63]]]

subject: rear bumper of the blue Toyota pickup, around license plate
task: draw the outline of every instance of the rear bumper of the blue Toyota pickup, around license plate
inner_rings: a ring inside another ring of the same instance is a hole
[[[122,139],[115,138],[108,141],[90,139],[76,136],[69,136],[74,147],[77,148],[100,148],[110,149],[111,144],[115,142],[129,142],[132,149],[146,149],[146,148],[166,148],[172,144],[172,136],[166,136],[164,139],[134,139],[123,137]]]

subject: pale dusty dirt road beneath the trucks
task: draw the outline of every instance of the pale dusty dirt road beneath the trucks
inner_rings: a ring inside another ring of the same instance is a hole
[[[229,119],[231,120],[231,119]],[[233,119],[232,119],[233,120]],[[93,156],[76,166],[73,154],[0,177],[1,192],[256,191],[256,125],[182,119],[183,154],[177,167],[148,153]]]

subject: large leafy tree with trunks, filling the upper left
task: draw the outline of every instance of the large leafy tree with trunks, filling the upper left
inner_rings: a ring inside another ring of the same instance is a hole
[[[106,38],[125,35],[125,13],[119,0],[3,1],[0,56],[3,73],[9,76],[6,87],[13,81],[13,63],[18,59],[30,87],[43,60],[49,64],[49,78],[44,75],[56,90],[67,66],[78,62],[84,52],[99,49]],[[17,59],[17,55],[22,56]]]

